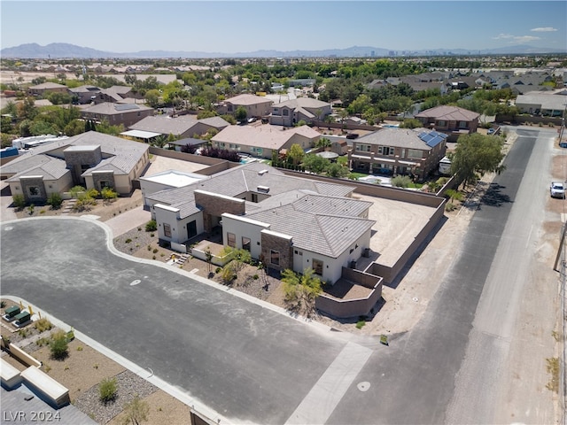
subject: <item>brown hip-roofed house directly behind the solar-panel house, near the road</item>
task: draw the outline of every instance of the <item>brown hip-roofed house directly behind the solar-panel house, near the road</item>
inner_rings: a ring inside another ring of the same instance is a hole
[[[431,128],[447,135],[468,135],[478,128],[480,114],[458,106],[443,104],[416,114],[416,120],[423,123],[424,128]]]

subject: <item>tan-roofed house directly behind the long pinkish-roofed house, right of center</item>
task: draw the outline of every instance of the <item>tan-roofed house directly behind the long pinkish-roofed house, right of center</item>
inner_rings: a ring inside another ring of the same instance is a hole
[[[269,114],[269,123],[275,126],[292,127],[300,120],[307,123],[322,121],[331,113],[330,104],[311,97],[298,97],[273,104]]]

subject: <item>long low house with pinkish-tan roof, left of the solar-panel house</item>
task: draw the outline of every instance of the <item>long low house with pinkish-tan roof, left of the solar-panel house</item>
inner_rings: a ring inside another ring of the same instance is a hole
[[[211,139],[213,146],[248,153],[253,157],[272,158],[298,143],[304,150],[315,146],[321,134],[308,126],[283,128],[269,124],[261,126],[229,126]]]

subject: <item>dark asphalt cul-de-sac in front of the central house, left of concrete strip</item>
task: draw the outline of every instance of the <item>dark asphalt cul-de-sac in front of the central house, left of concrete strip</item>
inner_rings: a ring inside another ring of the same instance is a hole
[[[229,421],[283,423],[314,388],[320,400],[324,385],[316,384],[348,343],[345,334],[275,313],[175,268],[114,255],[104,229],[92,221],[17,220],[4,223],[1,236],[3,295],[25,298],[151,367]],[[347,360],[346,370],[352,367],[360,364]],[[335,384],[356,390],[350,382]]]

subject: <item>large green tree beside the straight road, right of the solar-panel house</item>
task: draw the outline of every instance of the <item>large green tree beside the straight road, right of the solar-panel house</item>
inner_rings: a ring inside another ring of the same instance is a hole
[[[485,173],[500,174],[506,168],[501,165],[504,158],[502,145],[501,137],[492,135],[459,136],[456,149],[449,155],[451,174],[465,186],[477,182]]]

